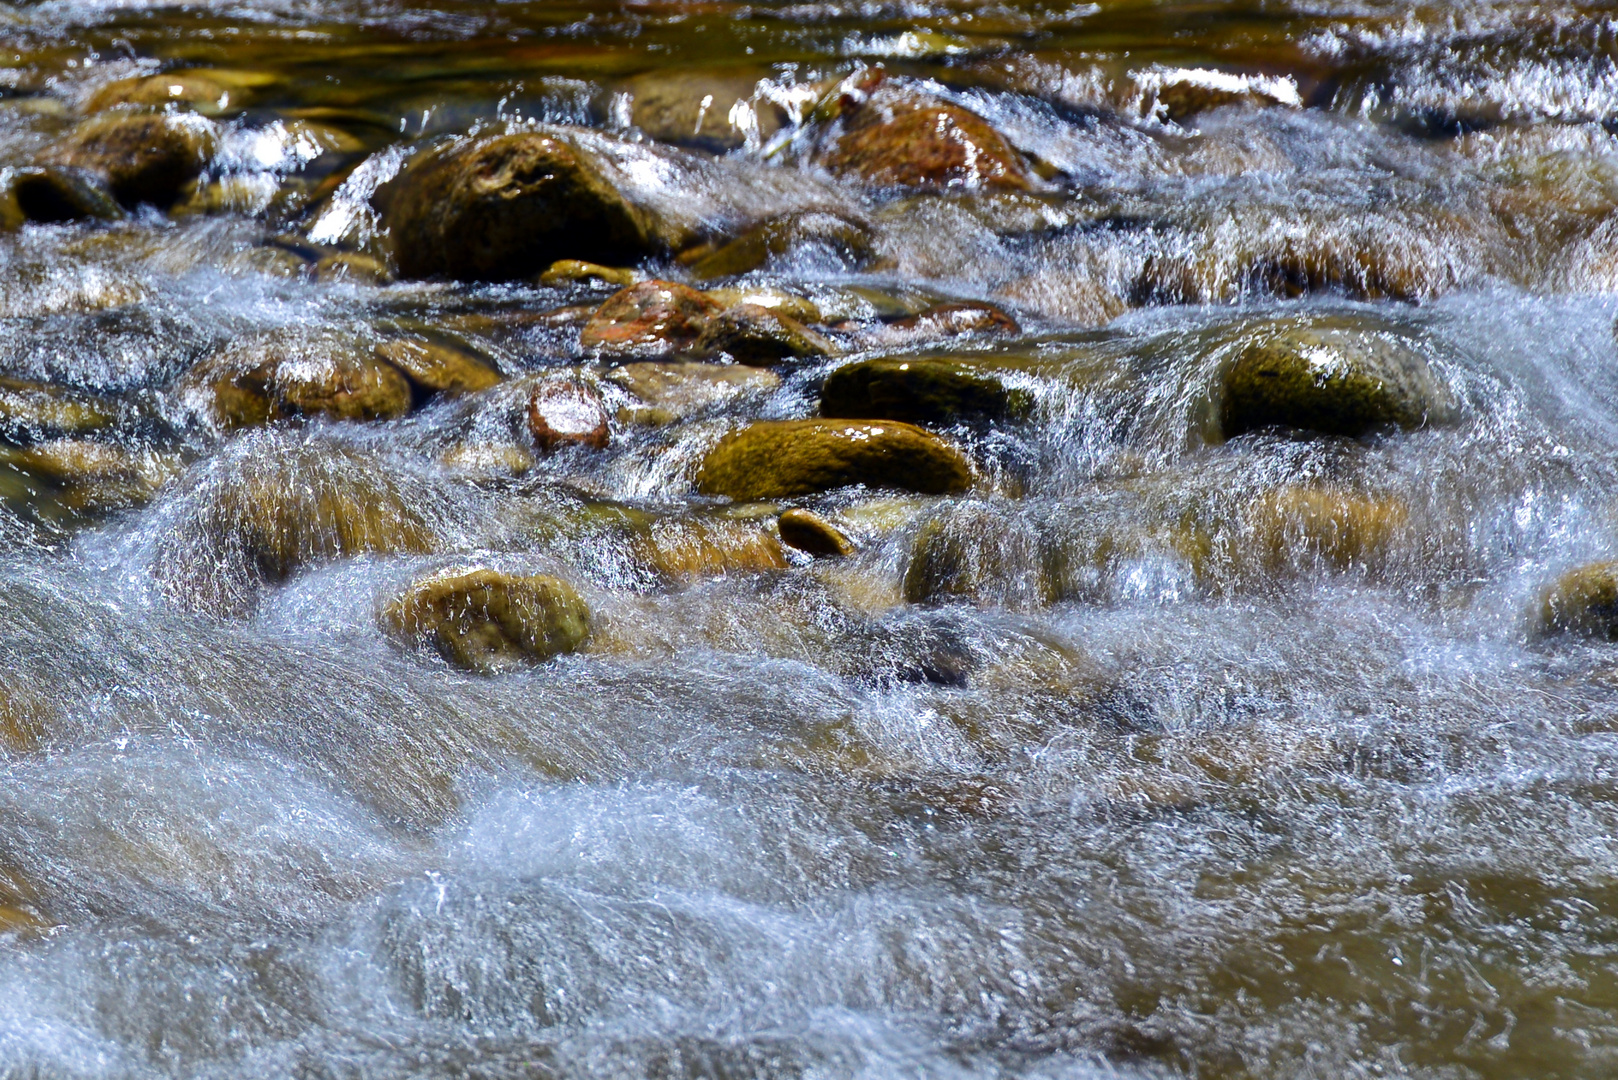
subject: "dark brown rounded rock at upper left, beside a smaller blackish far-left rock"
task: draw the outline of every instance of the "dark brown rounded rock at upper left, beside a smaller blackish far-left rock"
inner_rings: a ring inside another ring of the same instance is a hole
[[[167,207],[214,155],[218,130],[186,113],[113,110],[91,117],[42,159],[87,168],[125,204]]]

